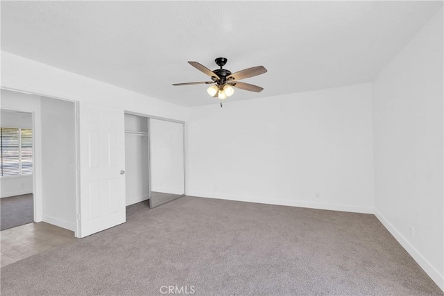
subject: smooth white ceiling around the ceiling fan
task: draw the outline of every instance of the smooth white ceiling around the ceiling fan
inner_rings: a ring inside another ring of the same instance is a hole
[[[1,49],[185,106],[216,103],[196,61],[263,65],[245,100],[369,82],[443,1],[2,1]],[[125,99],[125,98],[122,98]]]

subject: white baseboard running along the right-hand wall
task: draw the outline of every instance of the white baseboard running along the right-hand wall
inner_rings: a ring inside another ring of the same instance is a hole
[[[413,257],[413,259],[420,265],[420,267],[429,275],[431,279],[438,285],[441,290],[444,290],[444,276],[441,275],[432,264],[427,261],[427,259],[422,256],[418,250],[396,229],[388,220],[382,216],[382,214],[375,209],[375,216],[378,220],[386,227],[388,232],[396,238],[396,241],[404,247],[404,249]]]

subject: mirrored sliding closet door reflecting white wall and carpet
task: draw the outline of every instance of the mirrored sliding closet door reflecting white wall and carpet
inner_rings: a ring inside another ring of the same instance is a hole
[[[150,207],[185,194],[183,123],[149,119],[151,198]]]

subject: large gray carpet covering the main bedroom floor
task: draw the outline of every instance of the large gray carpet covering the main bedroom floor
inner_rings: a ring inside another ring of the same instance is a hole
[[[373,215],[193,197],[127,211],[1,268],[1,295],[443,295]]]

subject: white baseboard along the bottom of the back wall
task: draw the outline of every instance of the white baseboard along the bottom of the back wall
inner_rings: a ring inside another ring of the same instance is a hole
[[[352,213],[373,214],[373,207],[361,207],[349,204],[328,204],[325,202],[311,202],[306,200],[280,200],[275,198],[257,198],[254,196],[226,195],[219,193],[203,193],[187,191],[187,195],[199,198],[216,198],[222,200],[236,200],[239,202],[257,202],[259,204],[275,204],[280,206],[305,207],[309,209],[326,209],[330,211],[350,211]]]

